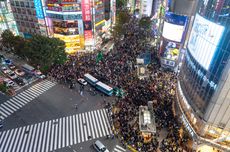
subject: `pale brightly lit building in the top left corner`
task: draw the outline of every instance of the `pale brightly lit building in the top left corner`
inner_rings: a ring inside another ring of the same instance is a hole
[[[18,35],[18,28],[9,1],[0,1],[0,34],[10,29],[15,35]]]

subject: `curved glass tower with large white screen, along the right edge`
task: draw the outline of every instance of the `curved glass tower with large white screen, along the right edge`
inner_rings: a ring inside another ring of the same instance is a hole
[[[197,142],[230,150],[230,1],[197,1],[178,77],[181,119]]]

